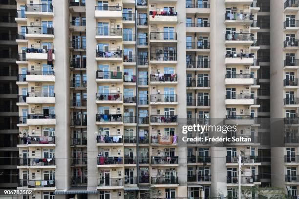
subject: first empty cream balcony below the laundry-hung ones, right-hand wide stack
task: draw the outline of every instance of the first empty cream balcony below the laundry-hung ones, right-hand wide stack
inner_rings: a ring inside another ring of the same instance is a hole
[[[225,75],[226,85],[253,85],[254,78],[252,74],[226,74]]]

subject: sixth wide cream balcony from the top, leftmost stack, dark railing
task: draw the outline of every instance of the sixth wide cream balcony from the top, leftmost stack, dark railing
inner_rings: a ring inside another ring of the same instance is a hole
[[[28,125],[55,125],[55,114],[29,114],[27,116]]]

